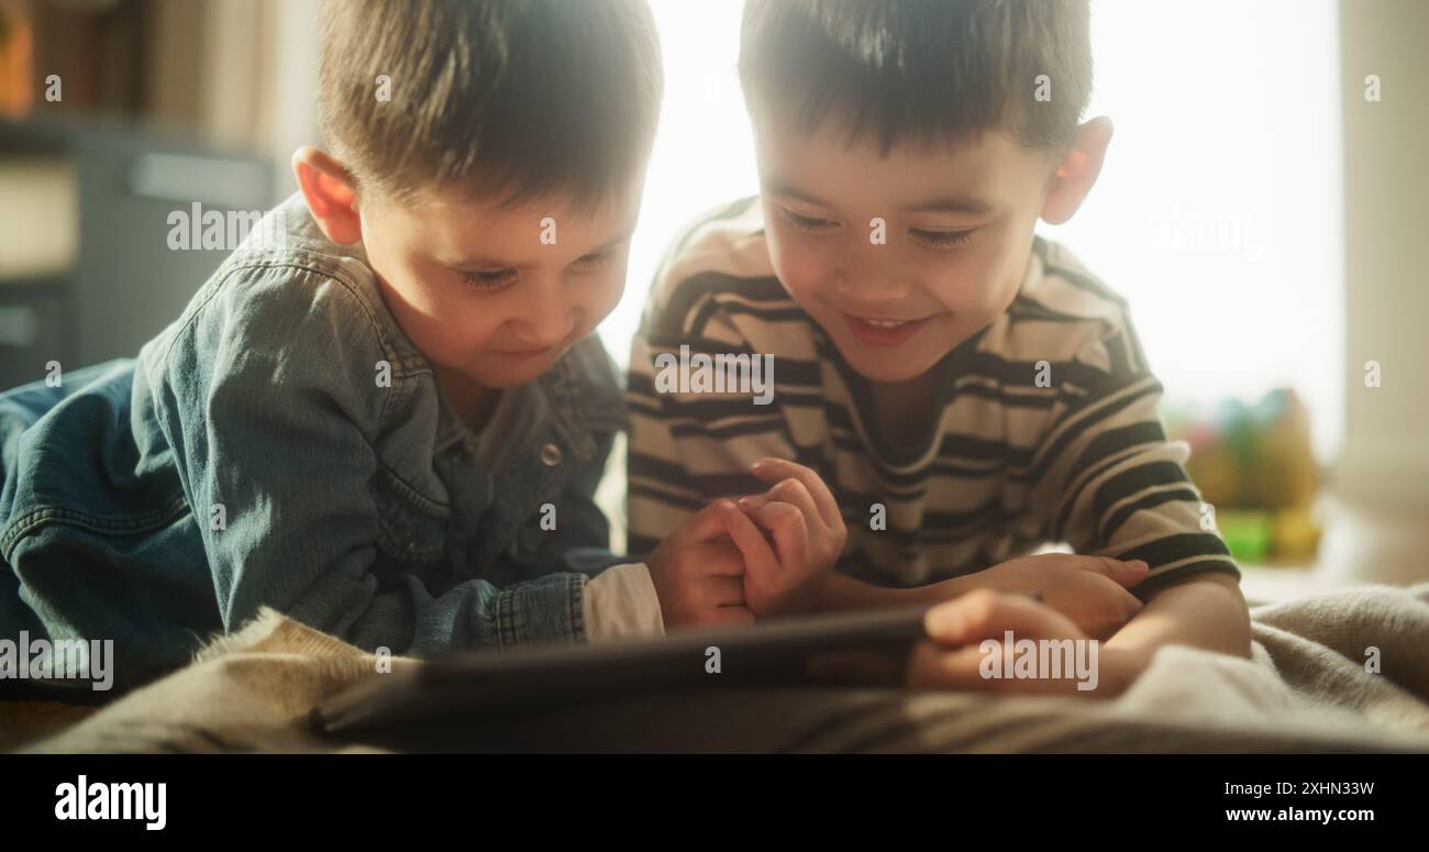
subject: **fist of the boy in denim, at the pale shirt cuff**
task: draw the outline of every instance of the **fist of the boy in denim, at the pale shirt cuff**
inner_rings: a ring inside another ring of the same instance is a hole
[[[735,503],[716,500],[669,535],[646,559],[664,626],[750,623],[745,605],[745,556],[726,538],[737,527],[747,540],[759,536]],[[770,558],[772,559],[772,558]]]

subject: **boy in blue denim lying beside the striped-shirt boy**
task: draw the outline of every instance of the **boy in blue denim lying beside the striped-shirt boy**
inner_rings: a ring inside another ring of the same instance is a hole
[[[427,655],[749,620],[730,505],[652,582],[593,503],[662,71],[643,0],[327,3],[300,193],[137,360],[0,397],[0,635],[131,686],[273,606]],[[630,603],[634,602],[634,603]]]

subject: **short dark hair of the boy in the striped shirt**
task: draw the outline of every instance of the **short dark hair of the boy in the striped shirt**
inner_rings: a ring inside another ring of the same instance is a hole
[[[1060,154],[1092,90],[1089,30],[1087,0],[747,0],[739,74],[756,123],[833,117],[885,154],[1003,129]]]

